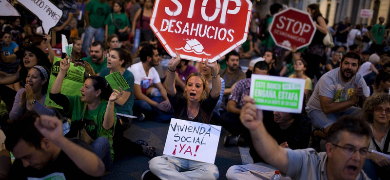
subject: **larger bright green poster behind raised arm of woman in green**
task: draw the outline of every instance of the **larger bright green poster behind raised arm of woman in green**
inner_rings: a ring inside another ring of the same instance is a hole
[[[56,104],[53,100],[50,99],[50,90],[52,89],[53,83],[57,78],[57,75],[59,73],[59,62],[61,62],[61,58],[59,57],[54,57],[54,62],[53,66],[50,70],[50,80],[49,80],[49,87],[47,88],[47,93],[46,93],[46,100],[45,100],[45,105],[46,106],[51,106],[55,108],[60,108],[62,109],[61,106]],[[61,94],[64,95],[79,95],[80,90],[82,86],[84,85],[84,72],[85,68],[82,66],[74,66],[74,63],[70,63],[70,67],[68,72],[66,72],[64,81],[62,83],[61,87]]]

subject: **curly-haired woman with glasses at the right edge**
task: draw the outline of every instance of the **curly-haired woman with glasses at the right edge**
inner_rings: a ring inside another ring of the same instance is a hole
[[[375,93],[367,98],[363,106],[364,116],[372,130],[368,151],[390,153],[390,95]],[[370,153],[363,170],[371,180],[389,179],[390,161],[377,153]]]

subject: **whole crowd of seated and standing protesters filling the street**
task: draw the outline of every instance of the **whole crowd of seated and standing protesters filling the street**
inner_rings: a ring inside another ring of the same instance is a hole
[[[151,158],[143,180],[218,179],[215,164],[156,157],[155,147],[123,136],[133,120],[171,118],[222,126],[230,133],[221,137],[225,146],[250,147],[254,164],[232,166],[229,180],[270,179],[275,170],[293,180],[388,179],[389,159],[371,152],[390,151],[383,17],[370,26],[346,17],[328,27],[319,6],[309,4],[312,42],[286,50],[268,32],[284,8],[273,3],[269,15],[253,13],[248,39],[236,50],[203,64],[176,53],[164,72],[160,61],[169,55],[149,26],[153,0],[55,0],[64,16],[50,32],[14,3],[25,18],[0,20],[0,179],[100,179],[130,153]],[[334,47],[323,42],[328,32]],[[73,43],[70,57],[57,52],[60,35]],[[61,60],[49,85],[55,56]],[[246,71],[242,59],[251,59]],[[78,95],[63,90],[71,64],[85,68]],[[114,72],[129,89],[111,88],[105,77]],[[302,112],[257,109],[248,97],[252,74],[304,79]],[[48,106],[49,96],[62,108]]]

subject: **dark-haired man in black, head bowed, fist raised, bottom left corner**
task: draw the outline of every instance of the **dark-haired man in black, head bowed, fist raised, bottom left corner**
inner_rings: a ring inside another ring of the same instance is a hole
[[[104,164],[90,145],[65,138],[57,117],[37,117],[27,113],[6,131],[5,146],[16,158],[9,180],[90,180],[104,175]]]

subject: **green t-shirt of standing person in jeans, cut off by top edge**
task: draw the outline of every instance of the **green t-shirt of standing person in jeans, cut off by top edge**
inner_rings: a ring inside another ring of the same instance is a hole
[[[104,20],[111,13],[111,7],[106,2],[99,0],[91,0],[85,11],[89,11],[89,25],[93,28],[101,28],[104,26]]]

